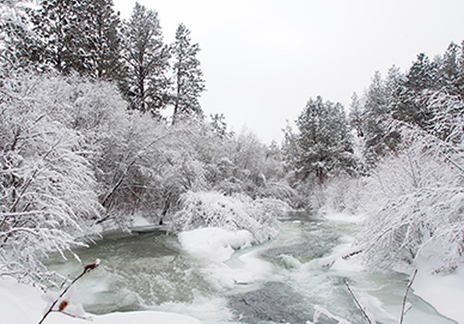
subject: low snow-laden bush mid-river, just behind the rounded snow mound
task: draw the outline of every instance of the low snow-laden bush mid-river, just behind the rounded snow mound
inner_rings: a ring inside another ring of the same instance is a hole
[[[196,228],[248,230],[257,242],[278,233],[277,219],[288,205],[277,199],[251,199],[245,194],[224,196],[219,192],[186,192],[180,210],[172,216],[172,231]]]

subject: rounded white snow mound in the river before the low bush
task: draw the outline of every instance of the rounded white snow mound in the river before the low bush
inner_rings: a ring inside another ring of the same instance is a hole
[[[254,242],[253,235],[247,230],[222,228],[199,228],[181,232],[178,237],[185,251],[217,263],[228,260],[233,251],[250,247]]]

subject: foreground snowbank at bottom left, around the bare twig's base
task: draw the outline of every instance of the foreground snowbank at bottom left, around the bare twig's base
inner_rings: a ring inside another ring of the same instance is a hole
[[[43,294],[34,287],[16,282],[11,278],[0,279],[0,323],[38,323],[46,309]],[[47,295],[48,297],[50,295]],[[200,320],[177,313],[162,311],[137,311],[91,315],[95,324],[201,324]],[[51,313],[44,324],[79,324],[89,320],[72,318],[61,313]]]

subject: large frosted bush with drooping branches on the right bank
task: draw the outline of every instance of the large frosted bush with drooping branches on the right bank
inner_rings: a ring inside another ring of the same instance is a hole
[[[463,173],[433,147],[416,138],[368,178],[362,199],[370,217],[358,244],[373,268],[420,257],[442,271],[464,260]]]

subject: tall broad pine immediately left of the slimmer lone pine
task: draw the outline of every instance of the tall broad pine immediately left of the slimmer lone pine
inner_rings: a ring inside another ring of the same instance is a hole
[[[158,116],[167,104],[169,49],[163,43],[157,12],[136,3],[122,35],[122,92],[131,108]]]

